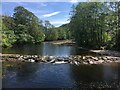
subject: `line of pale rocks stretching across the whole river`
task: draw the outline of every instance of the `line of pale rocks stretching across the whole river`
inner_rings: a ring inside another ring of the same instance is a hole
[[[18,54],[1,54],[2,61],[22,61],[22,62],[39,62],[53,64],[102,64],[111,62],[120,62],[120,57],[113,56],[81,56],[70,55],[68,57],[57,56],[40,56],[40,55],[18,55]]]

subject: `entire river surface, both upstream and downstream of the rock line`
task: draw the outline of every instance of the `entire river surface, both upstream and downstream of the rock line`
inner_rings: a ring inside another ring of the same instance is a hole
[[[3,53],[69,56],[88,54],[74,46],[24,45]],[[120,88],[120,64],[72,65],[28,62],[3,63],[3,88]]]

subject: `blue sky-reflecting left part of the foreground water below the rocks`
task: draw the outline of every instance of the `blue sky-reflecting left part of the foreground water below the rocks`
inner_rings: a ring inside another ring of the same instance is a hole
[[[6,69],[3,87],[73,87],[69,64],[22,63]]]

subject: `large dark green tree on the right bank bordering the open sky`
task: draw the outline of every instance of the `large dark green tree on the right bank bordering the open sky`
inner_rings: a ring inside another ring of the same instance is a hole
[[[100,2],[82,2],[73,8],[70,30],[78,45],[95,49],[105,45],[107,11],[108,7]]]

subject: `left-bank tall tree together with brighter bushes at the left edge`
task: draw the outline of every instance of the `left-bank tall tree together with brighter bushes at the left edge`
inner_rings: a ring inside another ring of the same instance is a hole
[[[42,21],[22,6],[14,9],[13,17],[2,16],[2,46],[14,43],[41,43],[45,39]]]

